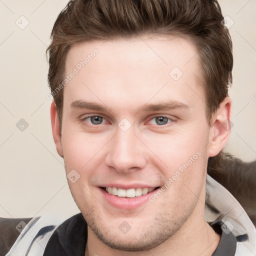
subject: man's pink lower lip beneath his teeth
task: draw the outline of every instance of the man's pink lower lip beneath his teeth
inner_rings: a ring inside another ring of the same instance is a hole
[[[158,188],[159,189],[159,188]],[[99,190],[103,194],[106,201],[116,208],[121,209],[135,209],[147,201],[149,201],[149,197],[154,194],[158,189],[153,190],[148,194],[143,194],[135,197],[118,197],[117,195],[112,195],[106,192],[104,189],[99,187]]]

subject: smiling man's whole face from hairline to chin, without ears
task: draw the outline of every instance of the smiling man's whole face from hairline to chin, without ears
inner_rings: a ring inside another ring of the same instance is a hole
[[[89,234],[110,247],[149,249],[203,218],[209,126],[196,52],[145,36],[68,52],[65,75],[78,73],[64,87],[61,145],[66,174],[80,175],[68,184]]]

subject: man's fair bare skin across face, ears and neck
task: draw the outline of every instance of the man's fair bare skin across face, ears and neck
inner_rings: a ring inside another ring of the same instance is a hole
[[[221,123],[230,119],[230,98],[212,114],[209,127],[198,50],[189,39],[144,35],[75,44],[66,58],[66,75],[94,48],[99,53],[64,87],[61,136],[51,104],[57,152],[66,174],[75,169],[80,175],[68,185],[88,224],[85,256],[211,255],[220,237],[204,219],[206,163],[227,142],[230,129]],[[169,75],[174,66],[183,73],[177,81]],[[71,107],[75,100],[106,109]],[[188,107],[138,112],[141,105],[165,101]],[[102,116],[102,123],[93,124],[86,118],[91,114]],[[159,125],[157,116],[170,119]],[[123,118],[131,124],[127,131],[118,127]],[[118,208],[98,187],[114,182],[162,186],[197,151],[201,155],[154,202]],[[123,221],[130,226],[125,234],[118,228]]]

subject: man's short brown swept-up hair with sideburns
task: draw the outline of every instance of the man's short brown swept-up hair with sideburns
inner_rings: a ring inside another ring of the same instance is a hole
[[[66,55],[77,42],[130,38],[142,34],[180,34],[195,43],[203,74],[206,114],[228,95],[232,82],[232,42],[216,0],[73,0],[58,15],[52,32],[48,82],[62,82]],[[63,90],[52,93],[61,129]]]

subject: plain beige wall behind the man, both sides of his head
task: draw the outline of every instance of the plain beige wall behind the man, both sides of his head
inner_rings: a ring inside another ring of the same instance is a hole
[[[72,215],[79,211],[52,139],[51,101],[46,98],[49,89],[44,52],[54,20],[66,2],[0,0],[3,217],[32,217],[47,212]],[[234,44],[233,86],[229,93],[233,100],[233,127],[225,149],[250,161],[256,158],[256,0],[219,3],[224,16],[234,21],[229,29]],[[26,22],[29,24],[23,28]],[[23,131],[16,127],[21,118],[29,124]]]

